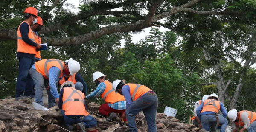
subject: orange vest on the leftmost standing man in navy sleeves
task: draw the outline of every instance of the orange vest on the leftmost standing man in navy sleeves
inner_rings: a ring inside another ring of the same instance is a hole
[[[24,22],[25,21],[21,22],[20,25],[22,23],[24,23]],[[26,22],[26,23],[29,25],[28,22]],[[36,47],[35,46],[31,46],[31,45],[27,44],[26,42],[24,42],[22,40],[21,33],[20,33],[20,25],[19,25],[18,32],[17,32],[17,38],[18,38],[18,49],[17,49],[17,52],[36,54]],[[34,36],[34,33],[32,32],[32,29],[30,28],[30,26],[29,26],[28,37],[33,42],[36,42],[35,40],[36,40],[37,37]]]

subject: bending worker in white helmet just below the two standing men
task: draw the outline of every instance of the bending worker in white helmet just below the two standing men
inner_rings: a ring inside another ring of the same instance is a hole
[[[43,90],[47,88],[48,107],[51,108],[59,101],[56,84],[65,74],[74,75],[80,70],[79,62],[70,58],[61,61],[58,59],[43,59],[35,62],[29,72],[35,83],[35,102],[43,106]],[[48,86],[49,85],[49,86]],[[55,101],[56,99],[56,101]]]

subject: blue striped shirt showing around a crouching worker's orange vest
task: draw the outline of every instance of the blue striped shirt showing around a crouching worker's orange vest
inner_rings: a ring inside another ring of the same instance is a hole
[[[106,84],[102,82],[98,85],[96,90],[94,90],[93,93],[90,93],[89,95],[87,95],[86,98],[93,99],[93,98],[99,97],[100,95],[102,95],[105,89],[106,89]],[[113,104],[108,103],[108,106],[116,110],[124,110],[126,107],[126,101],[118,101]]]

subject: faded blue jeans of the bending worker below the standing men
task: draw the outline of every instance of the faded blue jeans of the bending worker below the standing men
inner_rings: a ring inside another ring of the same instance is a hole
[[[44,106],[43,90],[44,88],[47,88],[49,80],[44,79],[44,76],[41,73],[38,73],[38,71],[36,71],[33,68],[30,68],[29,72],[35,84],[35,102]],[[52,93],[50,90],[47,90],[47,94],[48,94],[48,108],[54,107],[56,105],[55,98],[52,96]]]

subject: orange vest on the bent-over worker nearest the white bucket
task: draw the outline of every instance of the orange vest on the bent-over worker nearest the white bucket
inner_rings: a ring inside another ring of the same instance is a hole
[[[130,94],[131,94],[132,101],[136,101],[143,94],[147,93],[148,91],[152,91],[148,87],[140,84],[125,84],[125,85],[128,85],[130,87]]]

